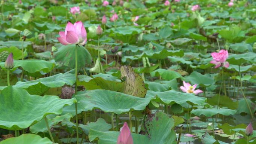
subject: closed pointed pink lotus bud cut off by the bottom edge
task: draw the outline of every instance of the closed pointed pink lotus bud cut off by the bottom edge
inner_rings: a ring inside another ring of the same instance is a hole
[[[117,144],[133,144],[132,135],[126,122],[120,131]]]

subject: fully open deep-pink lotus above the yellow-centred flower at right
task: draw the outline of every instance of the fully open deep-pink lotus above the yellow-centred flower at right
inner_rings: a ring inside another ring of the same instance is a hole
[[[215,64],[215,68],[220,67],[220,65],[223,64],[224,67],[228,68],[229,67],[229,63],[226,61],[226,59],[228,58],[228,50],[220,50],[219,53],[217,52],[213,52],[211,53],[211,56],[213,57],[213,60],[210,61],[211,64]]]

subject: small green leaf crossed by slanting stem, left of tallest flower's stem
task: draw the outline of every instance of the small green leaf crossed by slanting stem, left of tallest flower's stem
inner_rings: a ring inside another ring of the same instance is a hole
[[[52,126],[57,125],[59,122],[63,121],[64,119],[70,120],[72,115],[69,113],[62,116],[56,116],[56,114],[49,114],[46,117],[47,117],[48,125],[51,128]],[[42,119],[36,124],[30,126],[29,130],[33,134],[37,134],[38,132],[47,132],[48,128],[46,126],[45,119]]]

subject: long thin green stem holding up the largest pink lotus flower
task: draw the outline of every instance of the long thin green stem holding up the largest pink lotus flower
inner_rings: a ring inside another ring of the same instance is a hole
[[[77,79],[77,46],[75,48],[75,55],[76,55],[76,69],[75,69],[75,77]],[[76,86],[75,86],[75,97],[77,94],[77,80],[76,80]],[[75,102],[75,108],[76,108],[76,144],[79,144],[79,131],[78,131],[78,116],[77,116],[77,102]]]

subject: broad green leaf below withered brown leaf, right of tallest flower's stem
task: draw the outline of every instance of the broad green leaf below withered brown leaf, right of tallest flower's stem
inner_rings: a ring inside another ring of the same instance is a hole
[[[130,110],[144,110],[150,101],[149,98],[139,98],[103,89],[88,90],[84,94],[76,95],[76,98],[79,103],[79,112],[99,108],[106,113],[116,114],[126,113]]]

